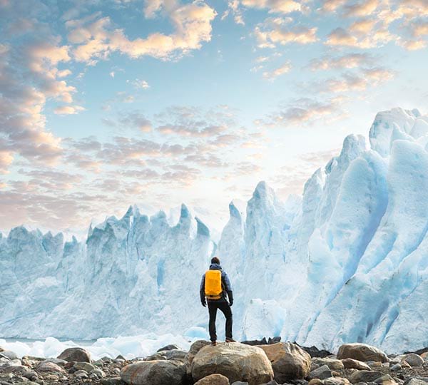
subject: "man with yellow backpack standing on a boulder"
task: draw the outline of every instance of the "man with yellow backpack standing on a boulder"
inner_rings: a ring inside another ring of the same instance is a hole
[[[226,294],[229,301],[226,299]],[[203,307],[206,307],[208,302],[211,344],[217,344],[217,334],[215,332],[217,309],[220,309],[226,317],[226,342],[235,342],[232,338],[232,309],[230,309],[233,305],[232,287],[230,286],[228,274],[220,266],[218,257],[213,257],[210,270],[202,276],[202,281],[200,282],[200,302]]]

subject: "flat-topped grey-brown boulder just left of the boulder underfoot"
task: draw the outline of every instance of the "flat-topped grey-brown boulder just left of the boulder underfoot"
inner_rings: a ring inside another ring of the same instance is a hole
[[[181,385],[185,369],[182,361],[138,361],[123,367],[121,379],[129,385]]]

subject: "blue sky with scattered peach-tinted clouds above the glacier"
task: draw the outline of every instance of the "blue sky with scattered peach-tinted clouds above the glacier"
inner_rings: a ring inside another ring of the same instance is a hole
[[[0,230],[184,202],[221,230],[428,105],[428,0],[0,0]]]

